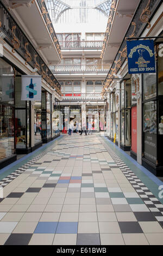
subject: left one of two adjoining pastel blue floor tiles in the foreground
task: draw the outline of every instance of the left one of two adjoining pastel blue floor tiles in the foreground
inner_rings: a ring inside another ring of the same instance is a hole
[[[57,229],[58,222],[39,222],[34,233],[37,234],[54,234]]]

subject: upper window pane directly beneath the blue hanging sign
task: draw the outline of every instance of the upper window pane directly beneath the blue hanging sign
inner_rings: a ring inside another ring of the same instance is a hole
[[[156,74],[143,74],[143,100],[156,96]]]

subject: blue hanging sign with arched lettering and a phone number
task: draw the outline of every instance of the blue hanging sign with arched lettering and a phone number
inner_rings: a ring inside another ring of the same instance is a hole
[[[129,74],[155,73],[153,40],[127,41]]]

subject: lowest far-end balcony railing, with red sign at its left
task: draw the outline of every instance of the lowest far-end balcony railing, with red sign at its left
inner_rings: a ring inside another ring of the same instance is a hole
[[[62,93],[62,100],[102,100],[101,93]]]

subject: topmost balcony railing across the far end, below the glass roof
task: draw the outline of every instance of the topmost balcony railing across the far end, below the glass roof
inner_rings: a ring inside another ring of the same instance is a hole
[[[61,49],[72,50],[72,48],[96,48],[101,49],[103,41],[59,41]]]

